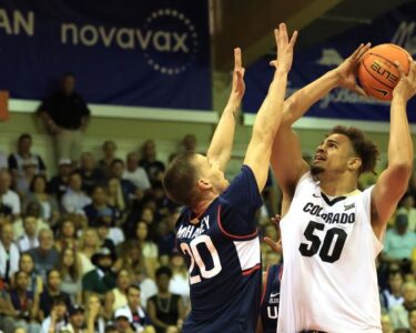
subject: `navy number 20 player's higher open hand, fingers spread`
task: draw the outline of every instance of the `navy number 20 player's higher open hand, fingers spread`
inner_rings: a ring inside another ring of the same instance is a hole
[[[293,62],[293,49],[297,39],[297,31],[293,32],[291,40],[288,40],[287,29],[285,23],[278,24],[278,29],[274,29],[274,38],[277,46],[277,59],[271,61],[271,65],[277,70],[288,72]]]

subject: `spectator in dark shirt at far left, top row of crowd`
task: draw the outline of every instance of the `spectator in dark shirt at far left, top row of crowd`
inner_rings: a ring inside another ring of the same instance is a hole
[[[44,165],[42,158],[38,154],[32,153],[31,148],[32,137],[28,133],[21,134],[18,140],[18,151],[11,153],[8,161],[9,170],[13,180],[16,180],[18,175],[23,174],[23,162],[27,160],[30,160],[31,163],[34,163],[35,174],[45,173],[47,167]]]

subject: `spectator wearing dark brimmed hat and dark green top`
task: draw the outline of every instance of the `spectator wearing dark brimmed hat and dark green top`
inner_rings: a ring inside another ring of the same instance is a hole
[[[115,258],[110,249],[101,246],[99,252],[91,259],[95,270],[87,273],[82,278],[82,289],[88,297],[89,292],[97,293],[104,299],[105,293],[115,286],[115,273],[112,271]]]

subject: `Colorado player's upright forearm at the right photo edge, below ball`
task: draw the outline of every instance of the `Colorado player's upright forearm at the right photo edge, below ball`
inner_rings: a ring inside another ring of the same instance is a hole
[[[413,141],[406,114],[406,100],[395,95],[390,107],[388,168],[399,168],[410,178],[412,167]]]

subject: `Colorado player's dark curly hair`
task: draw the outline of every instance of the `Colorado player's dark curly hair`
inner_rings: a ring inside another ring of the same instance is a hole
[[[354,152],[362,160],[358,174],[365,172],[376,173],[375,168],[379,155],[378,148],[373,141],[366,139],[361,130],[356,128],[337,125],[332,129],[331,134],[343,134],[349,139]]]

